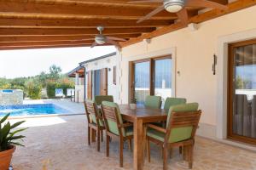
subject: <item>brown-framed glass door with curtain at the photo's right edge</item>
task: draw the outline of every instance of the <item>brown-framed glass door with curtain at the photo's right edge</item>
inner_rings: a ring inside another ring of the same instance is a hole
[[[256,144],[256,40],[230,44],[229,137]]]

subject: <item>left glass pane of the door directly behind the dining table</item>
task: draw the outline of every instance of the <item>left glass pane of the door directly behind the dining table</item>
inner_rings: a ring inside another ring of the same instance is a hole
[[[134,96],[137,105],[143,105],[150,95],[150,61],[134,64]]]

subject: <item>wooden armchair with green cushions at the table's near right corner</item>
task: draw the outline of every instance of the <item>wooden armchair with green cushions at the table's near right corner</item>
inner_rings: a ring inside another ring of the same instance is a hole
[[[159,144],[163,149],[164,170],[167,169],[168,150],[174,147],[183,147],[183,159],[189,161],[189,168],[192,168],[195,132],[201,117],[201,111],[197,110],[197,103],[172,106],[166,128],[148,124],[148,161],[150,161],[149,142],[151,141]]]

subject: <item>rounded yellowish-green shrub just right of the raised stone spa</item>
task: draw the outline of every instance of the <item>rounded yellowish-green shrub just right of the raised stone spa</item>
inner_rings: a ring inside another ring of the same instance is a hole
[[[30,99],[41,99],[42,86],[35,80],[26,82],[26,95]]]

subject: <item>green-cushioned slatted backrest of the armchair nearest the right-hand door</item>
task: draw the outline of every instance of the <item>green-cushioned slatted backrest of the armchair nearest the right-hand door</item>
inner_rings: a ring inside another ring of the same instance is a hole
[[[194,139],[201,117],[197,103],[172,106],[167,118],[166,142]]]

